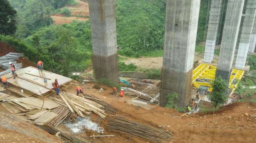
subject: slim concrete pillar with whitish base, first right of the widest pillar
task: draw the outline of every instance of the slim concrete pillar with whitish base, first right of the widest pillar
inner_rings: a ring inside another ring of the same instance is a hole
[[[218,25],[220,22],[220,13],[222,9],[222,0],[212,0],[211,10],[209,16],[209,24],[207,30],[207,39],[205,43],[205,54],[203,61],[211,63],[214,55],[214,48],[216,45],[216,37],[218,32]]]

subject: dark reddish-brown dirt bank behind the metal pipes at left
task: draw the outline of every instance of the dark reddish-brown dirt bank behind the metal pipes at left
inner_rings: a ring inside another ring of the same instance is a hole
[[[6,54],[9,54],[10,52],[16,53],[11,45],[8,45],[4,42],[0,42],[0,56],[4,56]],[[22,63],[23,68],[26,68],[28,66],[36,67],[36,64],[29,61],[29,59],[27,59],[25,57],[20,57],[17,60],[17,63]]]

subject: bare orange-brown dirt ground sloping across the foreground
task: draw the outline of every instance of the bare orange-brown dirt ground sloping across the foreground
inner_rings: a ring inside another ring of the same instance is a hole
[[[256,119],[252,118],[250,114],[256,113],[256,111],[252,111],[252,109],[256,109],[256,104],[239,102],[222,107],[214,115],[212,113],[198,113],[179,118],[183,113],[178,113],[174,109],[166,109],[159,106],[154,107],[152,110],[140,107],[135,109],[133,105],[124,102],[124,100],[131,100],[131,98],[120,97],[119,100],[116,100],[116,97],[111,94],[111,88],[103,86],[105,90],[98,92],[97,89],[92,88],[93,86],[94,83],[87,83],[82,87],[84,88],[85,93],[93,94],[118,108],[120,111],[116,115],[123,116],[123,118],[134,122],[140,122],[145,125],[172,131],[173,137],[171,141],[166,141],[165,143],[255,143]],[[76,92],[74,87],[69,88],[68,91],[70,93]],[[0,113],[2,112],[8,111],[0,105]],[[249,116],[246,116],[245,113],[248,113]],[[2,115],[0,114],[0,118],[2,118],[1,116]],[[94,122],[100,121],[100,126],[105,129],[104,135],[115,135],[115,137],[89,138],[90,135],[97,135],[98,133],[91,130],[84,130],[85,132],[83,133],[72,134],[64,125],[59,125],[58,129],[64,132],[69,132],[76,138],[91,140],[92,143],[147,143],[147,141],[142,139],[116,132],[108,132],[107,119],[100,119],[94,113],[91,114],[91,120]],[[15,127],[23,129],[23,126],[24,125],[21,122]],[[36,132],[40,134],[43,132],[42,134],[45,134],[45,131],[42,131],[41,129],[38,129]],[[24,134],[17,134],[15,131],[9,132],[8,130],[4,130],[2,134],[5,134],[5,138],[7,138],[6,136],[9,134],[14,134],[15,136],[18,136],[19,139],[23,137],[25,138],[26,136]],[[17,140],[15,139],[15,141]],[[7,143],[11,142],[13,141]]]

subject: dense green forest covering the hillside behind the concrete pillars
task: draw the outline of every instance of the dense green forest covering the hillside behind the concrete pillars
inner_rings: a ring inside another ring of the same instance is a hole
[[[90,20],[54,25],[51,15],[70,16],[65,5],[75,0],[0,0],[1,9],[12,11],[12,24],[1,27],[0,41],[13,46],[29,60],[44,61],[45,70],[68,76],[91,66]],[[116,0],[118,54],[127,57],[162,56],[166,0]],[[9,5],[9,6],[7,6]],[[201,0],[196,52],[203,52],[209,0]],[[3,17],[3,16],[1,16]],[[4,25],[4,24],[3,24]],[[9,30],[9,31],[8,31]],[[122,70],[122,69],[120,69]],[[129,70],[129,69],[128,69]],[[134,70],[134,68],[133,68]]]

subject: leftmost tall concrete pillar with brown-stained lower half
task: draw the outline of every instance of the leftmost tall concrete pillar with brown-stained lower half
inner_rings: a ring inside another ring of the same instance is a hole
[[[89,0],[96,79],[118,82],[114,0]]]

